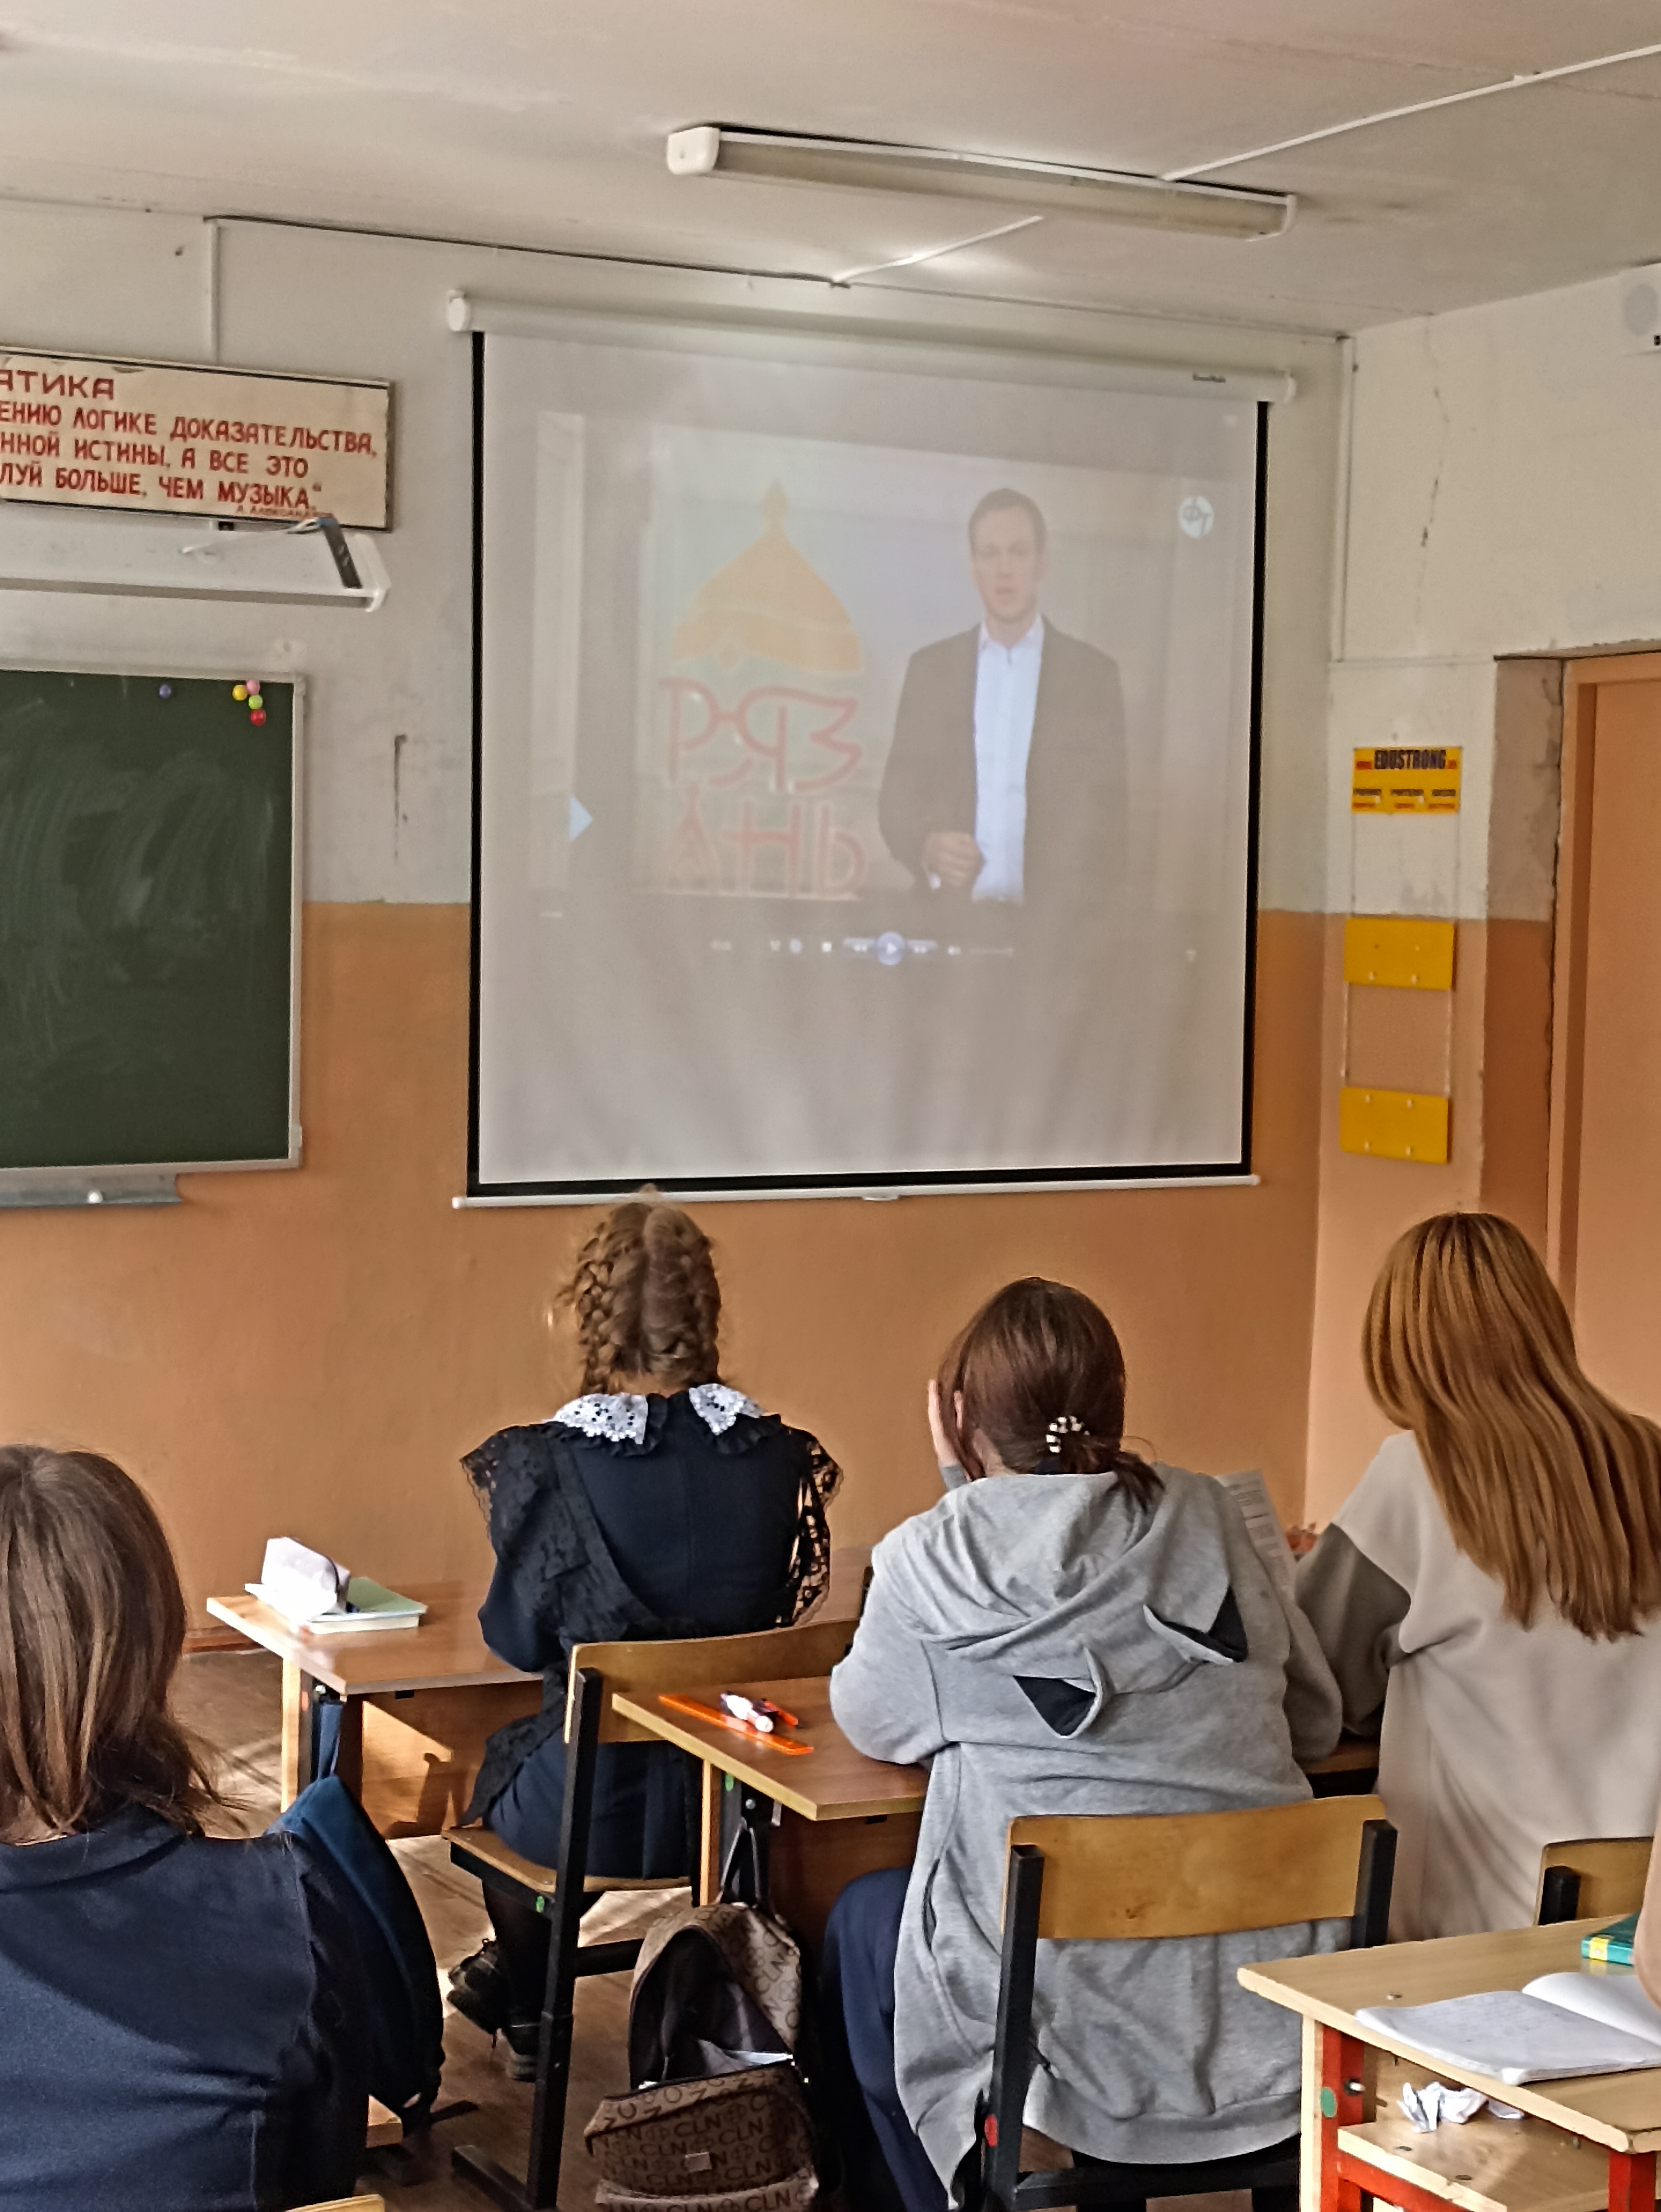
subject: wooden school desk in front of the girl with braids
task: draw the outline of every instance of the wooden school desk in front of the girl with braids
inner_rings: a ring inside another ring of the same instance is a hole
[[[411,1584],[420,1628],[303,1635],[257,1597],[210,1597],[208,1613],[283,1661],[283,1803],[312,1781],[323,1708],[341,1703],[336,1774],[383,1836],[453,1827],[473,1790],[484,1739],[542,1708],[542,1677],[489,1650],[480,1590]]]

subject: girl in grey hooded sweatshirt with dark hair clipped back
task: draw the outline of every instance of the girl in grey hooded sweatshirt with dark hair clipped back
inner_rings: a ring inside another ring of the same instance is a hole
[[[955,1486],[878,1544],[832,1674],[863,1752],[931,1770],[909,1878],[852,1882],[827,1938],[907,2212],[944,2208],[973,2150],[1009,1823],[1287,1805],[1338,1741],[1338,1688],[1232,1498],[1128,1453],[1124,1389],[1090,1298],[1035,1276],[997,1292],[931,1389]],[[1028,2124],[1137,2163],[1296,2135],[1298,2024],[1234,1969],[1345,1929],[1040,1944]]]

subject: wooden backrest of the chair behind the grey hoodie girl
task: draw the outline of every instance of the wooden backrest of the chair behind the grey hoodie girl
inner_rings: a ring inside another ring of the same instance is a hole
[[[1040,1936],[1124,1942],[1351,1920],[1378,1836],[1367,1836],[1369,1823],[1385,1823],[1382,1803],[1343,1796],[1254,1812],[1022,1818],[1009,1843],[1044,1856]],[[1382,1927],[1369,1940],[1382,1942]]]

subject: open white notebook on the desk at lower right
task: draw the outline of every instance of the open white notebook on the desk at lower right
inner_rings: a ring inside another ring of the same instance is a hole
[[[1542,1973],[1442,2004],[1369,2004],[1362,2028],[1493,2081],[1564,2081],[1661,2068],[1661,2006],[1630,1973]]]

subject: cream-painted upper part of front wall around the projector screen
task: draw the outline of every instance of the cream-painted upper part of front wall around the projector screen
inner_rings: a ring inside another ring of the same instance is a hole
[[[688,239],[697,252],[697,239]],[[212,290],[210,290],[212,288]],[[391,597],[374,617],[294,608],[9,595],[7,659],[305,670],[305,889],[321,900],[469,896],[471,429],[469,341],[451,290],[586,307],[754,314],[792,305],[832,325],[905,319],[1013,345],[1139,361],[1289,369],[1270,460],[1270,577],[1258,900],[1325,896],[1325,661],[1338,453],[1338,345],[1261,330],[1011,307],[692,270],[217,226],[173,215],[0,204],[0,343],[133,352],[396,383]]]

